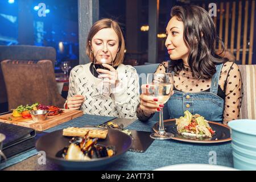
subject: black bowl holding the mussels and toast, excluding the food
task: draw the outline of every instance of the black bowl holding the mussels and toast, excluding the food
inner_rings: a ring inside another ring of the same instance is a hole
[[[90,161],[65,160],[61,158],[58,154],[60,154],[60,151],[63,150],[65,146],[68,146],[69,140],[72,138],[64,137],[63,130],[53,131],[39,138],[36,141],[36,149],[38,151],[45,151],[46,157],[49,160],[67,169],[103,169],[107,167],[108,164],[119,159],[132,146],[132,139],[129,135],[118,130],[108,130],[109,132],[106,139],[99,139],[98,143],[104,144],[105,146],[115,146],[116,154],[111,158],[98,158]]]

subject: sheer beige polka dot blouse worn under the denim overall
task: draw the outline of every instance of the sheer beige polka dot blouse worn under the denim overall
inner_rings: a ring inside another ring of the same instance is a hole
[[[159,64],[156,73],[166,72],[168,62]],[[224,63],[219,80],[220,88],[225,92],[224,106],[224,122],[237,119],[242,99],[242,78],[238,65],[233,62]],[[181,92],[195,93],[208,90],[211,85],[211,79],[197,79],[192,76],[189,66],[184,66],[184,69],[179,74],[174,75],[174,86],[176,90]]]

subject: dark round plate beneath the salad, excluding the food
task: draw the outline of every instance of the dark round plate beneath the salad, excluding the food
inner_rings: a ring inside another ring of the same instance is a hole
[[[185,137],[177,132],[177,127],[175,125],[175,119],[168,119],[164,121],[164,128],[167,132],[173,133],[175,136],[174,140],[180,140],[183,142],[190,142],[190,143],[221,143],[221,142],[228,142],[231,140],[230,138],[230,129],[228,126],[223,125],[217,122],[209,121],[210,127],[212,127],[213,131],[216,133],[213,135],[212,138],[192,138],[192,137]],[[153,126],[153,130],[156,132],[158,131],[159,123],[155,123]]]

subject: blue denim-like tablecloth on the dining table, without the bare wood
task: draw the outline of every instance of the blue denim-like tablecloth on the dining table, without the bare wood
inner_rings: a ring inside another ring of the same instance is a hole
[[[84,126],[85,123],[86,125],[98,125],[102,123],[102,121],[105,122],[108,119],[110,120],[113,118],[83,115],[82,117],[73,119],[72,121],[64,123],[63,125],[46,130],[46,132],[63,129],[67,126]],[[141,122],[137,120],[126,127],[126,129],[152,131],[152,126],[155,123],[156,121]],[[195,144],[179,142],[176,140],[154,140],[146,152],[137,153],[128,151],[121,159],[110,165],[108,170],[141,171],[152,170],[172,164],[209,164],[212,153],[216,154],[217,165],[233,167],[232,147],[230,142],[216,144]]]

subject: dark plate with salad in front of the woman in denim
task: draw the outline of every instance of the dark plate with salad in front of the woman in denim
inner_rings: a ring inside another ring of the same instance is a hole
[[[174,140],[190,143],[222,143],[229,142],[230,129],[218,122],[211,122],[199,114],[192,115],[185,111],[184,117],[164,121],[166,132],[174,134]],[[158,131],[159,123],[153,126]]]

